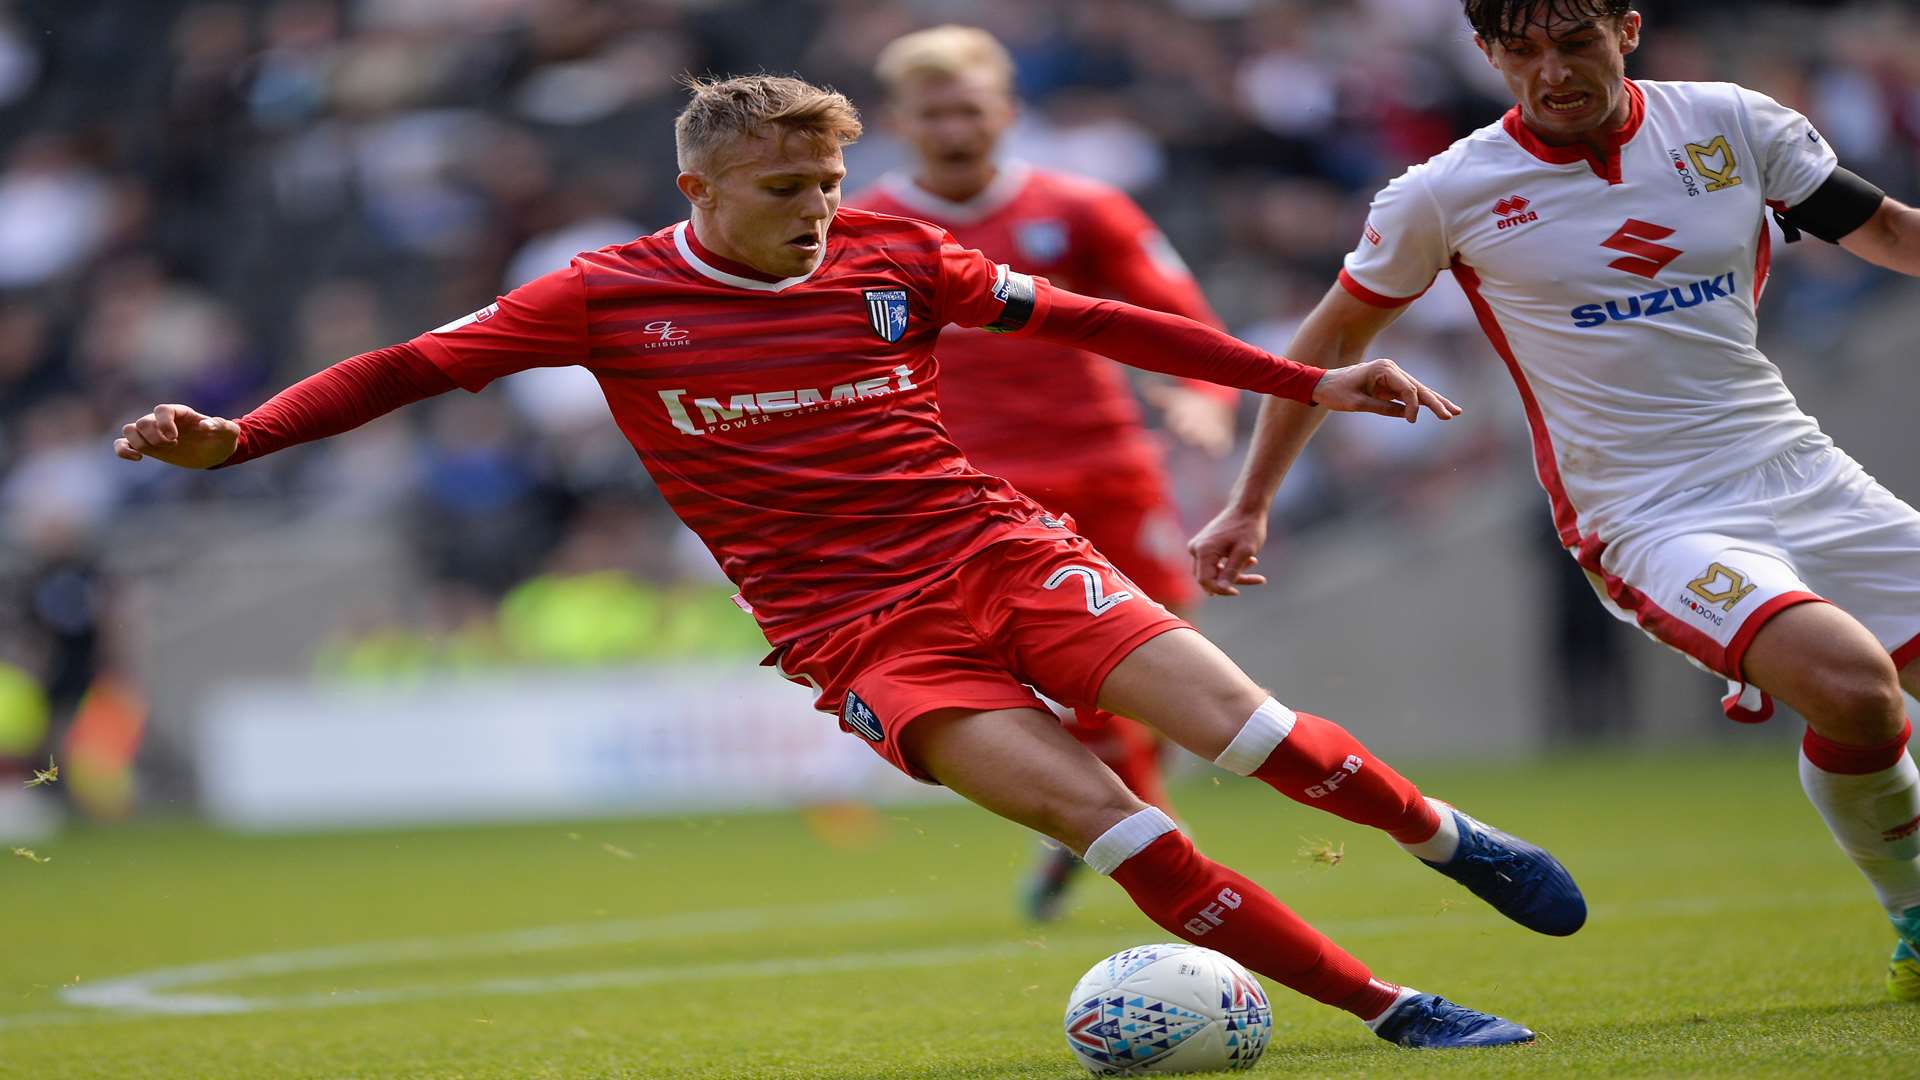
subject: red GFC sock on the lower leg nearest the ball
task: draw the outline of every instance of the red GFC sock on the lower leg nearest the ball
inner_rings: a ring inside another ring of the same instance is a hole
[[[1179,830],[1135,851],[1112,876],[1167,932],[1361,1020],[1379,1017],[1400,992],[1273,894],[1194,851]]]

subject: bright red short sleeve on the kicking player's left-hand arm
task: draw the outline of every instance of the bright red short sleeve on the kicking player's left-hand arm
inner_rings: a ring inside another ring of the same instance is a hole
[[[493,304],[413,342],[463,390],[480,390],[528,367],[588,359],[588,298],[580,263],[515,288]]]

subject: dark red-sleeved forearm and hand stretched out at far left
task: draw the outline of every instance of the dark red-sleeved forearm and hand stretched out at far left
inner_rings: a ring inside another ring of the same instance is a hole
[[[156,405],[121,429],[113,452],[127,461],[154,457],[182,469],[238,465],[351,430],[451,388],[453,380],[417,346],[399,344],[309,375],[238,421],[207,417],[188,405]]]

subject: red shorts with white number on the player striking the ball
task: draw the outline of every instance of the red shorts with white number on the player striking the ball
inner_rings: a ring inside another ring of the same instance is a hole
[[[916,780],[906,724],[935,709],[1092,705],[1108,673],[1148,638],[1187,626],[1085,538],[1006,540],[879,611],[778,653],[814,707]],[[931,780],[929,780],[931,782]]]

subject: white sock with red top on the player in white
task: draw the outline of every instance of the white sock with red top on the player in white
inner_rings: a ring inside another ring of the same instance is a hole
[[[1920,905],[1920,771],[1901,753],[1880,773],[1828,773],[1801,751],[1801,788],[1891,915]]]

